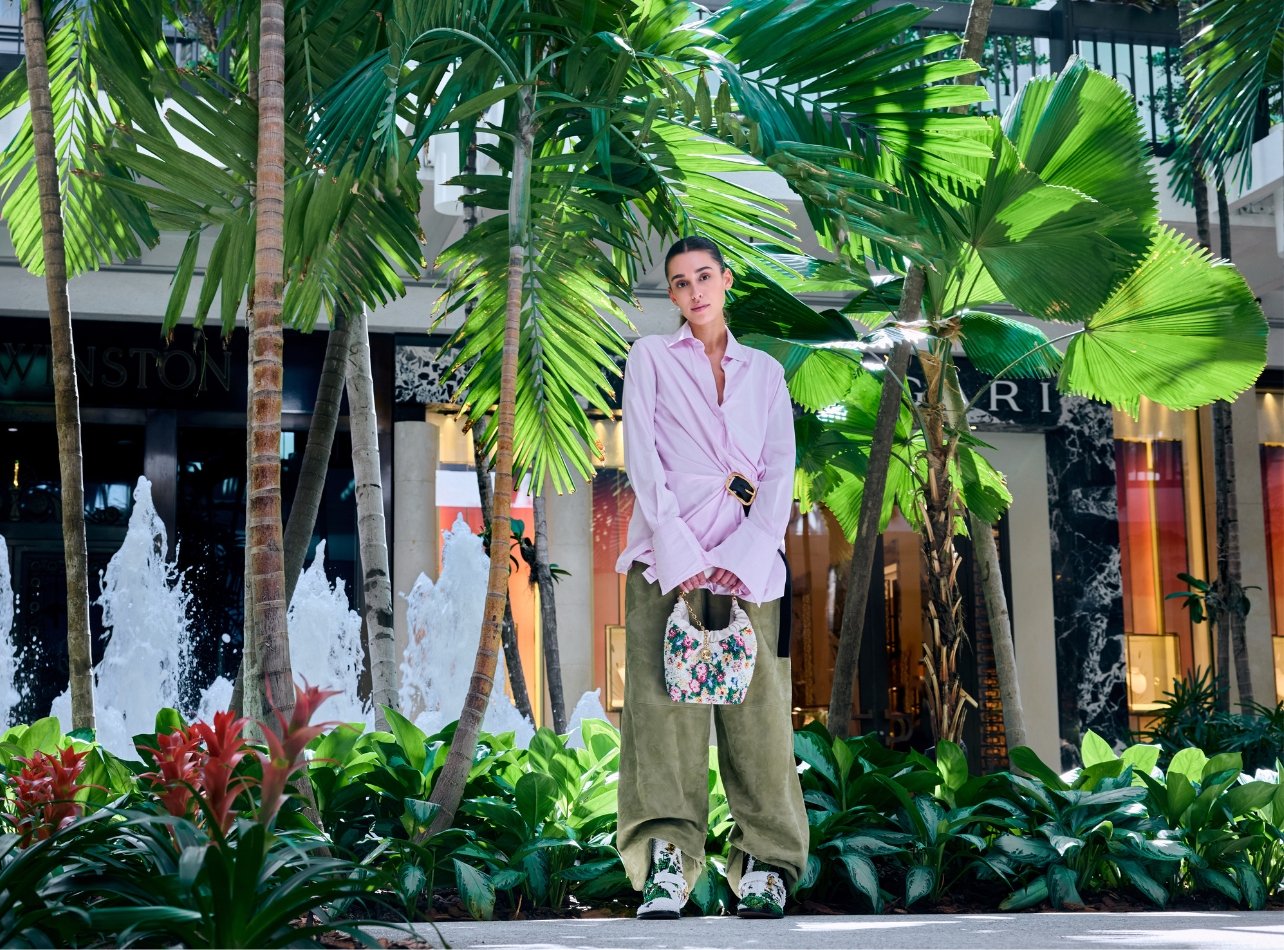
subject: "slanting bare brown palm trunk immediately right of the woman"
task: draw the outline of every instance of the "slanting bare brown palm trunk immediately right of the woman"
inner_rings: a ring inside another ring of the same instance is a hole
[[[910,267],[905,275],[900,295],[901,322],[917,320],[923,302],[924,275],[921,267]],[[896,435],[896,417],[904,394],[905,371],[913,352],[909,343],[898,343],[887,359],[883,372],[882,395],[874,419],[873,438],[869,443],[869,465],[865,469],[865,487],[860,497],[860,517],[856,537],[851,544],[851,566],[847,570],[847,596],[842,603],[842,624],[838,629],[838,653],[833,660],[833,686],[829,691],[829,734],[846,738],[851,729],[851,695],[860,659],[860,638],[864,633],[865,609],[869,603],[869,584],[878,547],[878,528],[882,520],[883,493],[887,488],[887,466],[891,463],[891,445]]]

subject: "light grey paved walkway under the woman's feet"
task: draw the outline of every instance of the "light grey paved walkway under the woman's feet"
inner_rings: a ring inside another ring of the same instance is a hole
[[[638,950],[681,947],[877,947],[878,950],[1284,950],[1284,911],[1139,914],[896,914],[889,917],[787,917],[741,920],[687,917],[682,920],[452,922],[419,933],[433,946],[523,947],[523,950]],[[383,936],[393,936],[383,933]],[[402,935],[404,940],[404,935]]]

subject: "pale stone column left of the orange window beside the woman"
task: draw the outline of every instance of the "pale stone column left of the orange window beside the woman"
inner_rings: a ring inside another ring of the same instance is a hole
[[[566,715],[593,683],[593,485],[577,483],[570,494],[550,494],[548,558],[570,571],[553,584],[557,650]],[[541,659],[542,661],[542,659]],[[547,697],[544,698],[547,704]],[[548,712],[551,721],[552,712]]]

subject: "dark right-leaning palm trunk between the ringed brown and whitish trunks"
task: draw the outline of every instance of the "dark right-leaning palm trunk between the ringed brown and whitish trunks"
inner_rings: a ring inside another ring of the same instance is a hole
[[[294,588],[303,573],[316,530],[317,512],[325,494],[325,476],[334,451],[334,433],[339,426],[339,407],[343,403],[344,362],[348,357],[348,339],[352,321],[336,311],[325,343],[325,362],[317,383],[317,398],[308,422],[308,444],[303,449],[299,466],[299,484],[294,489],[294,503],[285,522],[285,603],[294,598]]]

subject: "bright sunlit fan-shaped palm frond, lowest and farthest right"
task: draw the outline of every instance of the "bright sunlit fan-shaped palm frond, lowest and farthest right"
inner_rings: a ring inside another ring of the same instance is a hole
[[[1266,365],[1267,325],[1231,264],[1163,227],[1141,264],[1071,340],[1058,388],[1136,415],[1233,399]]]

